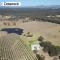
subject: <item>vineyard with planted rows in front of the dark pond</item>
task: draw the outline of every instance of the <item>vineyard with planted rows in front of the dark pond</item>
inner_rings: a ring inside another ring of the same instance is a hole
[[[37,60],[19,37],[10,34],[0,38],[0,60]]]

